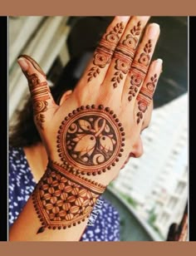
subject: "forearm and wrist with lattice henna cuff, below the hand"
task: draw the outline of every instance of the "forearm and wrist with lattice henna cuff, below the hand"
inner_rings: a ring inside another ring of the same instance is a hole
[[[80,240],[104,190],[104,186],[51,163],[12,225],[9,240]]]

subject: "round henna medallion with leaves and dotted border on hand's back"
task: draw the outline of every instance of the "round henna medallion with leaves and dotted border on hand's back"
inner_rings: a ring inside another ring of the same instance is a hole
[[[119,161],[124,136],[119,119],[109,107],[81,106],[61,122],[57,151],[71,173],[100,175]]]

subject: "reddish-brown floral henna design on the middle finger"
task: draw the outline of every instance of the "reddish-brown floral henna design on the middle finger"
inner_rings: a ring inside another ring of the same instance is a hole
[[[114,88],[118,86],[120,81],[123,79],[124,74],[127,74],[127,72],[130,70],[130,65],[135,54],[135,48],[137,47],[137,43],[139,41],[138,37],[140,36],[140,26],[141,22],[138,22],[136,26],[130,30],[130,34],[126,36],[125,40],[119,43],[115,49],[115,69],[117,71],[111,79],[111,81],[114,81]]]

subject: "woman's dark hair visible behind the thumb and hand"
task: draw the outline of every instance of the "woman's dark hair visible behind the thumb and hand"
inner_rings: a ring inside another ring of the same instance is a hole
[[[65,91],[73,90],[92,52],[85,52],[78,57],[73,57],[62,69],[61,76],[54,86],[51,86],[51,94],[59,104],[61,96]],[[41,137],[33,121],[32,100],[27,97],[27,101],[21,111],[17,111],[17,124],[10,127],[9,144],[14,147],[24,147],[36,145],[41,142]]]

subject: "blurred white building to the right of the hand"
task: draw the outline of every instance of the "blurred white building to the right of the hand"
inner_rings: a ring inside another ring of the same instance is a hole
[[[155,109],[141,135],[145,154],[131,158],[113,182],[163,239],[170,224],[179,224],[188,198],[187,113],[187,94]]]

